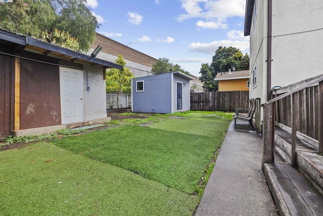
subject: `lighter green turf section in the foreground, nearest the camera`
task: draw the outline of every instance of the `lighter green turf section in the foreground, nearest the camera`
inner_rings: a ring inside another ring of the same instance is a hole
[[[44,142],[0,152],[2,216],[191,215],[197,200]]]

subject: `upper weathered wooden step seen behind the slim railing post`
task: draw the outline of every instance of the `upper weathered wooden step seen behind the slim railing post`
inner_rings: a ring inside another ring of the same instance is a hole
[[[291,134],[275,128],[275,151],[282,161],[291,163]],[[323,195],[323,157],[318,150],[302,139],[296,142],[296,164],[299,171]]]

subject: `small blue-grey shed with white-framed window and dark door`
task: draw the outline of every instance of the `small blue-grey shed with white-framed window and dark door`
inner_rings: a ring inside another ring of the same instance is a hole
[[[132,111],[174,113],[190,109],[190,76],[175,71],[132,79]]]

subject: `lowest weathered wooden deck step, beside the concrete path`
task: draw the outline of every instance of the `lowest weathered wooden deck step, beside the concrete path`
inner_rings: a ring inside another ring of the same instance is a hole
[[[264,163],[264,175],[279,215],[323,215],[323,198],[287,163]]]

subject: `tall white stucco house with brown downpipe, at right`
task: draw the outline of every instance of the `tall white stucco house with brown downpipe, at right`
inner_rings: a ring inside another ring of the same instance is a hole
[[[247,0],[244,35],[250,35],[250,98],[271,99],[271,89],[323,73],[323,1]],[[256,112],[260,128],[262,109]]]

